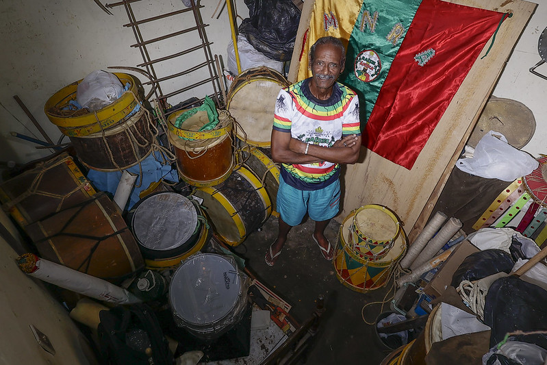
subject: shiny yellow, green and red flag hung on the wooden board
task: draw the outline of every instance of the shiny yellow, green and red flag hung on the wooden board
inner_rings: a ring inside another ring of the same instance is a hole
[[[346,42],[340,82],[359,95],[363,144],[411,169],[505,16],[441,0],[316,0],[298,80],[318,38]]]

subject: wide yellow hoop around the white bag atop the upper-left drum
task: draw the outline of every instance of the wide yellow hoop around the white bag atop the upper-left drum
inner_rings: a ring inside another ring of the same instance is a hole
[[[75,81],[55,92],[44,105],[44,112],[49,121],[56,125],[62,134],[69,137],[82,137],[94,134],[127,118],[139,105],[139,91],[142,88],[140,80],[127,73],[114,73],[122,85],[129,84],[129,90],[123,93],[116,101],[97,112],[75,110],[72,101],[76,100],[78,84],[84,79]]]

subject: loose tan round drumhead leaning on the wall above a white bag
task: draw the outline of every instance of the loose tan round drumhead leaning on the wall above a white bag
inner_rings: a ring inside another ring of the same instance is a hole
[[[471,147],[476,147],[488,131],[503,134],[511,146],[520,149],[530,142],[534,135],[534,114],[520,101],[491,97],[467,143]]]

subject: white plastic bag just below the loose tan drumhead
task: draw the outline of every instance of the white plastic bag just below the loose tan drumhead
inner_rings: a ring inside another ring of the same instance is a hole
[[[500,136],[500,139],[495,136]],[[507,138],[496,131],[489,131],[476,144],[472,158],[457,160],[456,167],[465,173],[513,181],[528,175],[539,166],[531,155],[507,143]]]

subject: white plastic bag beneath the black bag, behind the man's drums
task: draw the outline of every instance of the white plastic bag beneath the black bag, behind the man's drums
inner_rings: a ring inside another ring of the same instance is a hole
[[[236,63],[236,51],[233,49],[233,42],[230,41],[227,47],[228,52],[228,70],[233,75],[238,75],[238,64]],[[272,60],[266,57],[264,53],[260,53],[247,42],[245,36],[241,34],[238,36],[238,54],[240,55],[241,71],[248,70],[249,68],[266,66],[274,69],[275,71],[283,72],[283,62]]]

